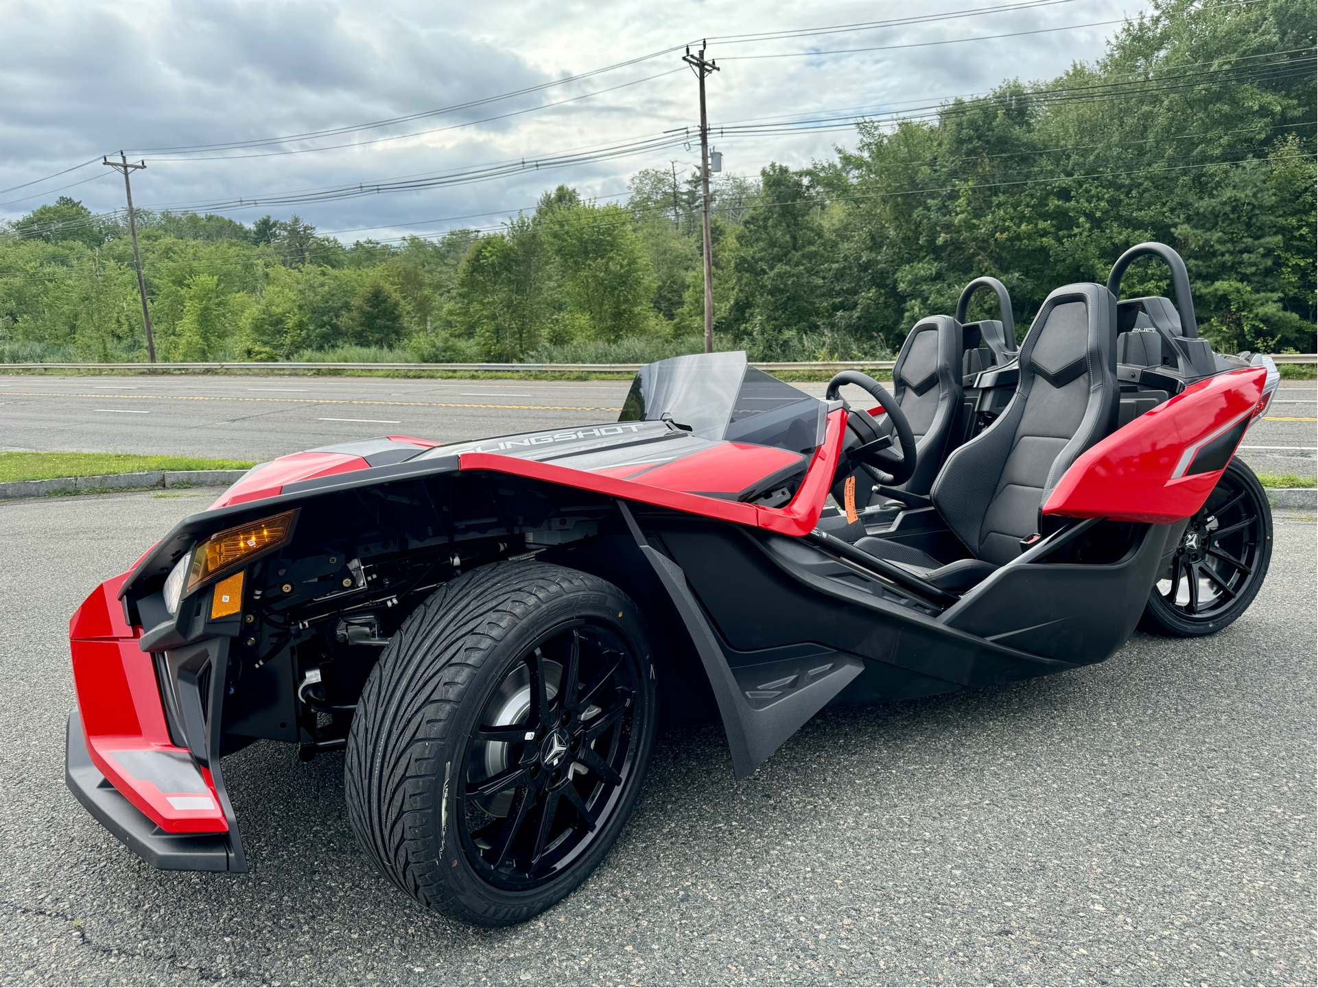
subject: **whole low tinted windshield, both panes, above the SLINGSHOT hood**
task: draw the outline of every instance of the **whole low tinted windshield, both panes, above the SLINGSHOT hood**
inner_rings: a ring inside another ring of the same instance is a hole
[[[618,422],[671,416],[701,439],[809,452],[824,441],[828,406],[757,370],[745,350],[693,353],[637,371]]]

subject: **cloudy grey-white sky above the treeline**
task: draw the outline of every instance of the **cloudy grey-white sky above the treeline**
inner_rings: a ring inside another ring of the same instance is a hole
[[[713,126],[829,111],[905,112],[1003,79],[1048,79],[1074,61],[1094,61],[1119,29],[1114,21],[1148,9],[1140,0],[996,9],[1004,3],[0,0],[0,188],[98,159],[0,194],[0,217],[17,219],[58,195],[96,212],[123,207],[123,180],[99,163],[101,154],[123,148],[148,165],[133,175],[140,207],[196,208],[241,198],[257,206],[212,211],[245,223],[297,212],[322,232],[344,231],[339,236],[349,242],[488,227],[532,207],[543,188],[559,182],[604,199],[625,194],[642,167],[667,169],[676,159],[681,175],[697,162],[699,142],[689,151],[651,149],[423,191],[297,206],[261,204],[261,198],[534,161],[673,128],[695,133],[696,79],[679,61],[681,53],[405,124],[273,145],[195,148],[426,113],[702,36],[712,40],[708,55],[722,66],[708,83]],[[733,38],[946,13],[958,16],[813,37]],[[1020,32],[1035,33],[990,37]],[[962,38],[974,40],[927,43]],[[886,50],[838,53],[876,47]],[[559,105],[546,107],[551,103]],[[502,119],[489,120],[496,116]],[[770,161],[804,165],[854,140],[854,130],[838,130],[716,137],[713,144],[725,154],[725,171],[745,175]],[[192,150],[153,150],[171,148]],[[326,149],[304,151],[314,148]],[[287,153],[294,150],[304,153]],[[61,188],[74,182],[80,184]],[[9,202],[18,196],[33,198]]]

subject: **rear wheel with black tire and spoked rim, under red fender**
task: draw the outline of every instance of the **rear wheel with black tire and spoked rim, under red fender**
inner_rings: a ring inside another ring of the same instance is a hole
[[[1144,606],[1140,627],[1198,638],[1248,610],[1272,560],[1272,506],[1240,460],[1231,458]]]

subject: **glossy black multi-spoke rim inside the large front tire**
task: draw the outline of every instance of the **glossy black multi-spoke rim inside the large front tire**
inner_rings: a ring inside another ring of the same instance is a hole
[[[534,889],[587,852],[637,769],[638,656],[572,620],[511,660],[467,746],[463,850],[492,885]]]

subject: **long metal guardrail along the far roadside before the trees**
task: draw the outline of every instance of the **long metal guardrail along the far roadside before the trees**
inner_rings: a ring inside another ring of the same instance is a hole
[[[1275,353],[1276,364],[1318,364],[1318,353]],[[782,361],[751,364],[759,370],[891,370],[891,360]],[[347,364],[328,361],[301,364],[295,361],[207,361],[188,364],[0,364],[0,373],[14,370],[451,370],[451,371],[526,371],[635,374],[642,364]]]

